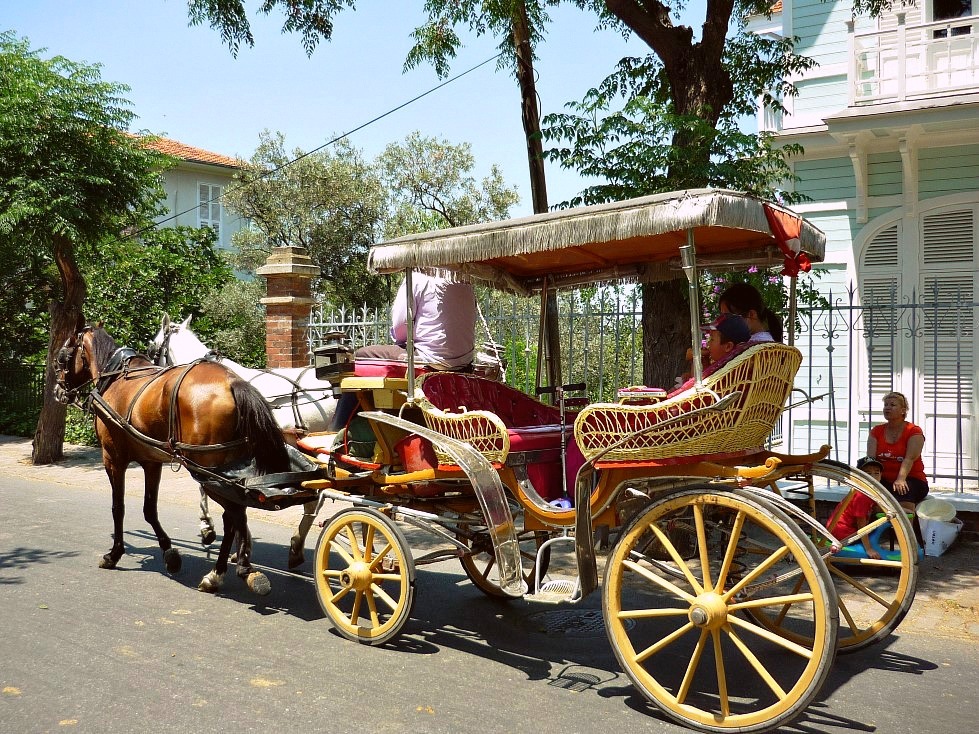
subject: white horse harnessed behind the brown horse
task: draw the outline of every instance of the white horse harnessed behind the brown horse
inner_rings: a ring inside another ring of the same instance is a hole
[[[190,329],[188,316],[180,323],[172,322],[169,315],[163,317],[160,331],[153,338],[149,351],[154,362],[160,365],[189,364],[198,359],[211,358],[246,382],[251,383],[272,408],[275,420],[286,440],[295,443],[307,433],[327,431],[333,422],[337,400],[333,386],[320,380],[311,367],[291,367],[259,370],[240,365],[209,349]],[[213,539],[213,524],[207,512],[207,497],[201,494],[201,535],[205,543]],[[303,505],[303,517],[296,533],[289,541],[289,568],[302,565],[305,560],[306,536],[313,525],[316,502]]]

